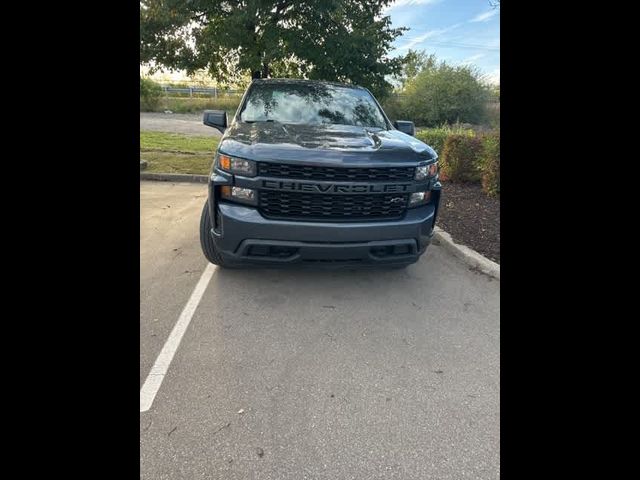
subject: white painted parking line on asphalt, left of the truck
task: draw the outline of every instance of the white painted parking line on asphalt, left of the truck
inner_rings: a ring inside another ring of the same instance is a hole
[[[212,263],[207,265],[207,268],[202,272],[202,276],[200,280],[198,280],[198,284],[196,288],[194,288],[189,301],[184,306],[178,321],[176,322],[173,330],[171,330],[171,334],[164,346],[162,347],[162,351],[156,358],[156,362],[151,367],[151,371],[147,376],[147,379],[144,381],[144,385],[140,389],[140,411],[146,412],[151,408],[151,404],[153,403],[153,399],[156,398],[156,394],[160,389],[160,385],[162,385],[162,380],[169,370],[169,365],[171,365],[171,360],[173,360],[173,356],[178,350],[180,346],[180,341],[184,336],[184,332],[187,331],[187,327],[189,323],[191,323],[191,318],[200,303],[200,299],[202,299],[202,295],[204,291],[207,289],[207,285],[209,285],[209,280],[211,280],[211,276],[215,271],[215,266]]]

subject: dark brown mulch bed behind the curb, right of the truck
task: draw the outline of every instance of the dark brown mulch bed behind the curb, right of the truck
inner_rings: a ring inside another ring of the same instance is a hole
[[[485,195],[480,185],[442,182],[436,224],[456,243],[500,263],[500,199]]]

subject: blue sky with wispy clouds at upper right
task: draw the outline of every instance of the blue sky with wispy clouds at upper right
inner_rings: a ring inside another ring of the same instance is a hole
[[[385,15],[394,27],[410,28],[391,57],[424,50],[447,63],[476,65],[487,81],[500,83],[500,8],[488,0],[396,0]]]

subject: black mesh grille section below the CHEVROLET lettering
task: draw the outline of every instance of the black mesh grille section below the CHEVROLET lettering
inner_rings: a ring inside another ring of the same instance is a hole
[[[261,190],[259,207],[271,218],[300,218],[307,221],[348,221],[401,217],[407,194],[326,195],[317,193]]]

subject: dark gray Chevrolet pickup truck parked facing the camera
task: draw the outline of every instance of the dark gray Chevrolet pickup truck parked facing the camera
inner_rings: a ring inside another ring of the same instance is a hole
[[[402,267],[429,245],[438,157],[367,89],[253,80],[230,124],[204,123],[224,134],[200,225],[210,262]]]

